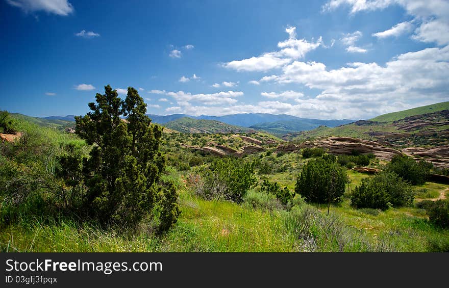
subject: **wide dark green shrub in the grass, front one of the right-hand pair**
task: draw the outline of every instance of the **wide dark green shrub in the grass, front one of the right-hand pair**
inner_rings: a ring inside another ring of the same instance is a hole
[[[387,210],[390,206],[406,206],[413,203],[412,187],[396,174],[381,172],[362,179],[350,195],[351,205],[357,208]]]

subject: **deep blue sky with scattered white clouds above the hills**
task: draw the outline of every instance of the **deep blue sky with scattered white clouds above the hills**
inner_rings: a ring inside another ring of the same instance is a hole
[[[0,109],[373,116],[447,101],[449,2],[0,0]]]

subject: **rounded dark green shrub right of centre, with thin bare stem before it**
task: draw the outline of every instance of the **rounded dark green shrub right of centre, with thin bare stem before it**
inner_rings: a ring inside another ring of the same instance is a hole
[[[324,159],[310,160],[296,179],[295,192],[307,202],[340,202],[347,182],[346,170]]]

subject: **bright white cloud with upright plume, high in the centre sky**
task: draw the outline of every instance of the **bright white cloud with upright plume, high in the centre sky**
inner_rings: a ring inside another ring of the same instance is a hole
[[[268,71],[280,68],[295,59],[304,58],[309,51],[322,45],[321,37],[316,42],[296,39],[295,27],[287,27],[285,32],[289,35],[289,38],[285,41],[278,42],[280,50],[264,53],[258,57],[227,62],[223,64],[223,67],[237,71]]]

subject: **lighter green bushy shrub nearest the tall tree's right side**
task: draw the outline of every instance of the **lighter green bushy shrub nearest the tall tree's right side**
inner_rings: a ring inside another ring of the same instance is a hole
[[[254,163],[241,159],[219,159],[204,167],[195,192],[206,199],[227,199],[241,202],[256,185]]]

